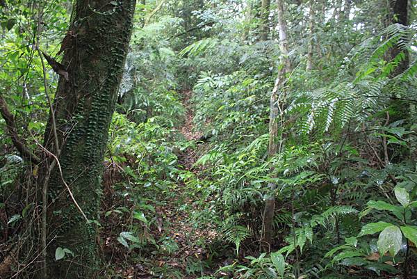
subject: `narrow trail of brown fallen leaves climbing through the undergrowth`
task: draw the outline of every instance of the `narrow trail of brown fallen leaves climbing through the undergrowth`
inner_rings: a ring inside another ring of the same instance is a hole
[[[179,131],[187,141],[195,141],[202,136],[201,133],[194,129],[194,112],[190,103],[192,96],[193,92],[190,90],[183,92],[182,103],[186,108],[186,118],[183,125],[179,127]],[[179,156],[179,168],[189,171],[198,177],[199,169],[193,168],[193,164],[197,159],[196,150],[188,148]],[[193,222],[192,215],[197,212],[195,202],[198,197],[190,196],[190,191],[186,187],[184,182],[179,182],[177,189],[174,190],[177,198],[175,200],[167,200],[165,207],[159,209],[164,218],[164,223],[168,224],[168,227],[163,228],[163,232],[167,235],[167,241],[174,241],[173,245],[177,246],[177,249],[170,255],[169,261],[165,260],[166,257],[162,257],[157,261],[159,266],[167,264],[168,266],[181,269],[184,276],[186,276],[183,278],[190,279],[201,276],[200,273],[195,275],[185,274],[189,273],[190,269],[199,269],[196,264],[200,264],[207,257],[204,244],[211,242],[215,237],[215,231],[207,228],[198,228],[195,222]]]

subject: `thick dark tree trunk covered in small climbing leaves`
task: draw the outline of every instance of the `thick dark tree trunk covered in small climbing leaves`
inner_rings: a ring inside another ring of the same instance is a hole
[[[115,109],[117,88],[131,37],[135,0],[78,0],[70,26],[54,101],[55,120],[49,118],[44,145],[59,149],[60,167],[47,175],[42,166],[40,185],[48,180],[47,278],[95,278],[99,268],[95,224],[86,222],[70,198],[70,191],[90,221],[99,218],[101,175],[108,128]],[[54,129],[57,136],[54,136]],[[56,140],[60,148],[56,148]],[[58,165],[58,164],[57,164]],[[65,185],[67,184],[67,185]],[[67,248],[55,260],[56,248]]]

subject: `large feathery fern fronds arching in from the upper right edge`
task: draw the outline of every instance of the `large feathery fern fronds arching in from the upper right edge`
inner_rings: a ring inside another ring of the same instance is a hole
[[[298,96],[291,106],[288,106],[286,113],[300,115],[297,123],[300,133],[304,135],[314,133],[318,136],[331,129],[341,131],[350,120],[363,122],[368,115],[382,109],[386,102],[381,102],[381,99],[388,101],[392,95],[415,99],[415,90],[407,88],[415,88],[411,84],[416,84],[414,77],[417,72],[416,61],[398,77],[389,79],[395,67],[404,60],[404,51],[411,45],[412,33],[412,29],[408,26],[401,24],[388,26],[384,31],[365,40],[352,50],[351,61],[355,58],[365,58],[354,81],[348,81],[351,77],[339,76],[340,80],[335,84],[313,92],[297,93]],[[392,61],[381,63],[386,53],[394,46],[402,51]],[[340,73],[345,74],[343,67]],[[411,83],[410,86],[399,85],[404,81]],[[385,91],[390,94],[384,95]]]

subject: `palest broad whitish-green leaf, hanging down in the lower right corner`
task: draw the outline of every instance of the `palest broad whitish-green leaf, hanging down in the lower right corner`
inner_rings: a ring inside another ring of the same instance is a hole
[[[400,228],[396,225],[390,225],[386,227],[377,241],[377,246],[380,255],[384,255],[389,252],[391,256],[397,255],[401,249],[402,233]]]

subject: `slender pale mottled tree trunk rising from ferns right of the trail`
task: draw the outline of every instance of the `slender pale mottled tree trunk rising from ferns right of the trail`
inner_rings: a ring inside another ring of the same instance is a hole
[[[287,72],[291,72],[291,63],[288,59],[288,41],[286,38],[286,22],[284,21],[283,0],[277,0],[277,17],[279,25],[279,47],[281,49],[281,67],[275,86],[272,89],[270,97],[270,122],[269,122],[269,143],[268,157],[271,159],[277,152],[282,150],[282,138],[279,138],[278,121],[282,121],[284,114],[284,102],[286,91],[284,90],[284,81]],[[282,128],[282,122],[280,127]],[[282,133],[281,133],[282,135]],[[274,167],[270,167],[270,177],[275,177]],[[263,233],[261,239],[261,249],[270,252],[272,239],[274,236],[274,215],[275,215],[275,189],[277,185],[273,182],[268,183],[268,194],[265,200],[265,209],[263,210]]]

